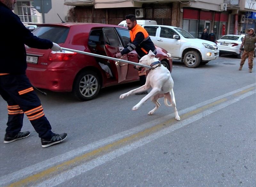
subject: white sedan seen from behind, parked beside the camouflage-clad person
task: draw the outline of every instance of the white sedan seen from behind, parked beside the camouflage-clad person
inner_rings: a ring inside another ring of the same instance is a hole
[[[222,36],[219,40],[216,41],[220,50],[220,55],[234,54],[237,56],[237,58],[241,58],[244,53],[244,49],[242,49],[241,52],[239,52],[239,49],[243,42],[244,36],[244,34]],[[254,57],[256,57],[256,48],[254,50]]]

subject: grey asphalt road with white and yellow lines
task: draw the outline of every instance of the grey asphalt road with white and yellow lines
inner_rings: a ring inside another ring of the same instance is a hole
[[[144,96],[119,99],[138,82],[104,88],[87,102],[71,93],[38,93],[58,145],[42,148],[24,118],[28,138],[0,142],[0,186],[256,186],[256,76],[247,61],[221,56],[204,66],[173,63],[181,120],[164,105],[149,116]],[[255,59],[254,59],[255,64]],[[7,121],[0,97],[0,139]]]

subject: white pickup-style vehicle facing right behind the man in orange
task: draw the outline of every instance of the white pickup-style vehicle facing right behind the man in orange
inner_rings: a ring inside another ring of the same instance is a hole
[[[219,58],[216,43],[197,39],[179,27],[166,25],[144,25],[153,43],[181,60],[187,67],[197,67]]]

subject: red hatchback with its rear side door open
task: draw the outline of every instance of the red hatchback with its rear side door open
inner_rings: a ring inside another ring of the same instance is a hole
[[[127,28],[97,23],[40,24],[33,34],[61,47],[109,57],[114,57],[130,40]],[[170,54],[162,48],[156,49],[156,57],[172,71]],[[100,88],[139,80],[138,71],[131,64],[69,51],[54,52],[28,46],[26,51],[27,76],[33,86],[72,91],[82,101],[95,98]],[[138,55],[132,51],[122,59],[138,62]]]

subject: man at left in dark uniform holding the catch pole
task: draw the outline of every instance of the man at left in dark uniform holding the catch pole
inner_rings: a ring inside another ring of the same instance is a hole
[[[67,133],[55,134],[44,116],[43,107],[26,76],[27,62],[24,44],[38,49],[62,51],[49,40],[34,36],[12,12],[16,0],[0,0],[0,94],[7,102],[8,122],[4,143],[26,138],[30,132],[20,132],[24,113],[41,138],[42,147],[60,143]]]

